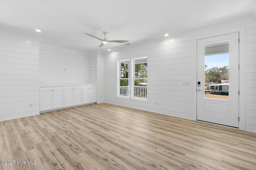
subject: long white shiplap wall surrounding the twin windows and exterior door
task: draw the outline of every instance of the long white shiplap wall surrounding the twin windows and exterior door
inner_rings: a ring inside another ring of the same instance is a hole
[[[165,39],[126,46],[116,49],[118,53],[106,53],[104,101],[196,120],[196,41],[240,32],[240,70],[245,70],[245,66],[246,70],[250,70],[248,73],[240,72],[241,76],[246,74],[246,79],[240,82],[240,129],[255,132],[255,26],[245,29],[246,25],[253,24],[255,20],[249,17]],[[138,57],[148,57],[148,101],[117,97],[118,61]],[[183,81],[190,81],[190,86],[182,86]],[[246,102],[243,100],[245,98]]]

